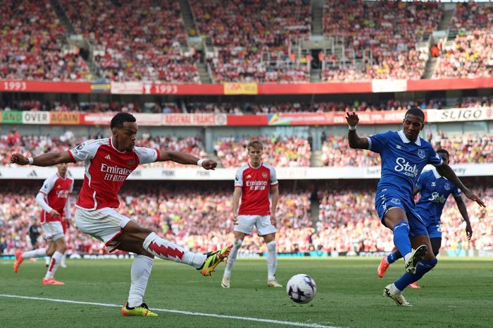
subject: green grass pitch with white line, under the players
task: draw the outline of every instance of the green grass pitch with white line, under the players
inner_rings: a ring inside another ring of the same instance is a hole
[[[151,309],[181,311],[157,311],[158,317],[124,317],[120,308],[111,306],[127,299],[130,260],[68,260],[68,268],[59,268],[56,274],[65,286],[42,286],[44,260],[26,260],[18,274],[13,273],[12,260],[0,260],[0,327],[493,326],[491,258],[439,259],[438,266],[420,281],[422,288],[404,291],[413,308],[400,308],[382,296],[385,285],[404,271],[404,264],[392,265],[380,279],[376,274],[379,260],[280,258],[277,279],[281,284],[298,273],[315,279],[317,296],[306,305],[289,300],[285,288],[266,286],[265,259],[239,258],[230,289],[220,287],[224,265],[212,277],[202,277],[186,265],[156,260],[146,303]]]

